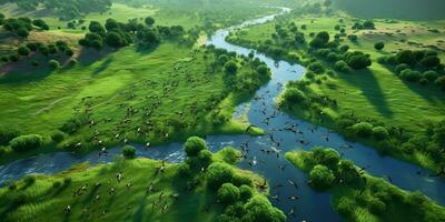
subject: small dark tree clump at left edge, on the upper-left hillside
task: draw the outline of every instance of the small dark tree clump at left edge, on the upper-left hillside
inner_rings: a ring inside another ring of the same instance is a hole
[[[18,37],[28,38],[29,32],[34,28],[40,30],[49,30],[49,26],[42,19],[31,20],[28,17],[21,18],[4,18],[2,13],[0,13],[0,24],[3,26],[4,30],[14,32]]]

